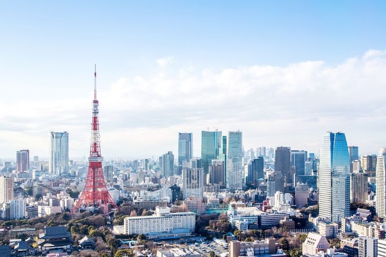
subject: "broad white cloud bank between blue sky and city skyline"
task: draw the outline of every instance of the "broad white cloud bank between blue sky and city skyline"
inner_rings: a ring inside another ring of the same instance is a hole
[[[289,145],[317,152],[325,131],[343,131],[360,154],[386,144],[386,51],[369,50],[338,65],[306,61],[220,71],[169,66],[148,77],[118,79],[99,93],[102,153],[139,158],[177,151],[178,132],[243,131],[245,149]],[[87,97],[87,96],[86,96]],[[1,106],[0,156],[18,149],[48,156],[48,132],[68,131],[71,156],[87,155],[90,99]],[[26,111],[27,110],[27,111]]]

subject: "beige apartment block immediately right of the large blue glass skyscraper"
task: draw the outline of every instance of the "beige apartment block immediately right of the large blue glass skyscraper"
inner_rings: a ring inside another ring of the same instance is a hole
[[[367,200],[367,174],[350,173],[350,201],[365,203]]]

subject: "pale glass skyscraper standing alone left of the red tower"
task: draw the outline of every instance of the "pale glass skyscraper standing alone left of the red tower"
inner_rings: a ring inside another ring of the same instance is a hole
[[[68,132],[50,132],[49,173],[68,173]]]

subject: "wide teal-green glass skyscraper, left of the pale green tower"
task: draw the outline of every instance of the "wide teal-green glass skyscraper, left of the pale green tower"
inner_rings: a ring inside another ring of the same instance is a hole
[[[220,159],[222,145],[221,131],[202,131],[201,132],[201,159],[204,173],[209,171],[212,160]]]

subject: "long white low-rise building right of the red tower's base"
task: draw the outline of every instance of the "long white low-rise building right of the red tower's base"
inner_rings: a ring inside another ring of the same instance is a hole
[[[126,217],[124,222],[125,234],[149,234],[173,233],[173,230],[180,229],[184,233],[195,231],[196,214],[194,212],[170,213],[168,207],[157,207],[155,214],[151,216]],[[154,238],[154,237],[153,237]]]

